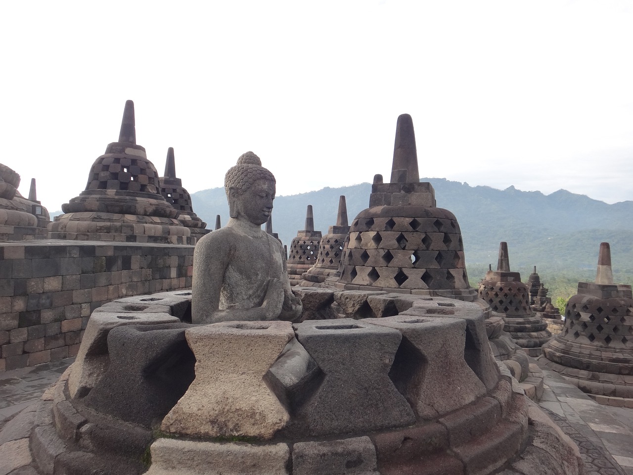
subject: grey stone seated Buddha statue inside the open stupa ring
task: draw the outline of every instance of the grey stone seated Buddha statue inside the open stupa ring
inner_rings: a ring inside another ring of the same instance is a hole
[[[289,320],[301,316],[284,250],[261,225],[275,199],[275,177],[246,152],[224,179],[229,222],[203,236],[194,251],[192,323]]]

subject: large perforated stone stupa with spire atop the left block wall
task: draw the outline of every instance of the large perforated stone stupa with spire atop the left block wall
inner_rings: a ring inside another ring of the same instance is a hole
[[[160,194],[158,172],[136,144],[134,103],[127,101],[117,142],[92,164],[85,190],[61,206],[51,239],[194,244],[178,210]]]

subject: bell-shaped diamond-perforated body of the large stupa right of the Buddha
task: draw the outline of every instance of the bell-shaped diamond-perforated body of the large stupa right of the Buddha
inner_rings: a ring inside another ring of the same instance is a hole
[[[346,246],[337,288],[427,295],[470,289],[460,227],[442,208],[368,208],[354,219]]]

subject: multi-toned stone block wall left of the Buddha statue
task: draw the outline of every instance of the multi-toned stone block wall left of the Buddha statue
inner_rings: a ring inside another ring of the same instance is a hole
[[[0,243],[0,371],[77,354],[92,310],[124,296],[191,288],[194,246]]]

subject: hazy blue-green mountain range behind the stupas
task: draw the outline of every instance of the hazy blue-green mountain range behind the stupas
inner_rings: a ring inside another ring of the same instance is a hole
[[[608,205],[563,189],[544,195],[513,186],[498,190],[442,178],[420,181],[430,182],[437,206],[457,218],[468,267],[487,267],[491,263],[496,268],[499,242],[507,241],[511,268],[522,272],[523,281],[532,265],[540,270],[589,272],[596,268],[599,243],[607,241],[614,271],[633,275],[633,201]],[[367,208],[370,193],[371,185],[362,183],[278,196],[273,229],[289,245],[297,231],[304,229],[306,207],[312,205],[315,229],[325,234],[335,224],[341,194],[346,196],[351,224],[356,214]],[[213,229],[218,214],[226,224],[229,206],[223,188],[198,191],[191,198],[194,211],[208,228]]]

